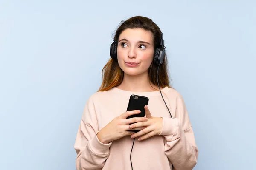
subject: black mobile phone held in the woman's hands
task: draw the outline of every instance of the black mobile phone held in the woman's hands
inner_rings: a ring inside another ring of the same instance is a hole
[[[128,116],[126,119],[129,119],[132,117],[144,117],[145,116],[145,109],[144,109],[145,105],[148,105],[148,97],[132,94],[130,96],[126,111],[140,110],[140,113]],[[129,125],[131,125],[131,124],[129,124]],[[140,130],[131,130],[131,131],[138,132]]]

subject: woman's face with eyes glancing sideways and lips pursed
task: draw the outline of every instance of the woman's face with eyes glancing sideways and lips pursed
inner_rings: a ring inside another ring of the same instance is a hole
[[[147,73],[153,61],[154,45],[151,32],[141,28],[125,29],[117,45],[118,64],[125,74]]]

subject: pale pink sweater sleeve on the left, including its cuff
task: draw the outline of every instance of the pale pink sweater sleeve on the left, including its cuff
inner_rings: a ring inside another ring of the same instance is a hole
[[[99,127],[97,125],[95,105],[88,99],[76,136],[75,150],[76,170],[101,170],[110,153],[109,144],[103,144],[97,138]]]

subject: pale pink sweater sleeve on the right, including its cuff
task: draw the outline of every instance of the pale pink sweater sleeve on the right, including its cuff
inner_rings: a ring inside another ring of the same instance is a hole
[[[197,164],[198,148],[182,96],[176,99],[174,119],[163,117],[165,154],[175,170],[192,170]]]

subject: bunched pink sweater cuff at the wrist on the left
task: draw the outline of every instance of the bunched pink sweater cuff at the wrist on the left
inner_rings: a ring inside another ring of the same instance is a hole
[[[109,142],[108,144],[103,144],[100,142],[97,137],[98,132],[96,132],[94,138],[90,142],[91,150],[97,155],[109,153],[109,147],[111,146],[112,142]]]

